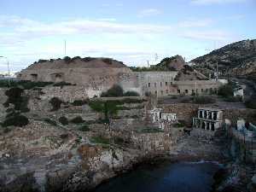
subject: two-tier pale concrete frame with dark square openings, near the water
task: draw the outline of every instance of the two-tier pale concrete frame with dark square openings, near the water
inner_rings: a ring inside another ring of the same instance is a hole
[[[207,131],[216,131],[223,123],[223,111],[215,108],[198,108],[197,118],[193,118],[193,126]]]

